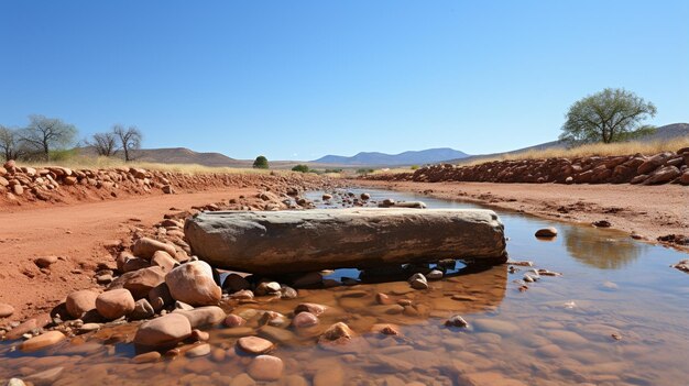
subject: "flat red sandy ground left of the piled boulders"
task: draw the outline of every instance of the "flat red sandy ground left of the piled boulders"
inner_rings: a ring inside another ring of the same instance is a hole
[[[160,222],[171,208],[188,210],[255,192],[225,188],[1,211],[0,302],[14,307],[12,320],[48,311],[73,290],[97,288],[96,266],[114,267],[106,246],[129,239],[132,228]],[[47,255],[59,260],[42,272],[33,261]]]

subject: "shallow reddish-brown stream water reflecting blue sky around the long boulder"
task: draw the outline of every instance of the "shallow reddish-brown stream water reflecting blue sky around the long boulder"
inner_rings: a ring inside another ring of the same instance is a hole
[[[319,195],[314,195],[319,197]],[[374,191],[373,199],[424,200],[430,208],[475,206]],[[689,385],[689,275],[669,267],[686,254],[634,242],[619,232],[500,213],[515,261],[562,273],[521,282],[529,267],[458,269],[429,290],[404,280],[299,290],[297,299],[256,298],[225,304],[250,319],[248,327],[209,330],[212,354],[133,364],[135,326],[106,328],[54,349],[24,354],[0,346],[0,379],[55,368],[55,385],[248,385],[250,357],[233,350],[238,337],[259,334],[277,343],[285,363],[282,385]],[[556,227],[559,236],[536,240]],[[356,269],[331,277],[357,278]],[[522,290],[520,288],[522,287]],[[400,304],[379,305],[387,294]],[[289,316],[304,301],[328,306],[306,331],[258,328],[256,310]],[[402,305],[402,306],[401,306]],[[444,327],[459,313],[468,330]],[[318,334],[343,321],[360,334],[337,351]],[[397,337],[370,332],[393,323]],[[52,381],[52,379],[50,379]],[[339,383],[341,382],[341,383]]]

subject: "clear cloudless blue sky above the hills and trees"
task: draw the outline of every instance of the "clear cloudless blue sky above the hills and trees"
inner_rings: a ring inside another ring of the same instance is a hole
[[[508,151],[605,87],[689,121],[689,1],[0,0],[0,123],[145,147]]]

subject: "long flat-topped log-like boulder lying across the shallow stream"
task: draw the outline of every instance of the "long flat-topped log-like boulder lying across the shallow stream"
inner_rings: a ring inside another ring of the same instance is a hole
[[[216,211],[188,219],[184,229],[199,258],[258,274],[507,258],[504,228],[492,210]]]

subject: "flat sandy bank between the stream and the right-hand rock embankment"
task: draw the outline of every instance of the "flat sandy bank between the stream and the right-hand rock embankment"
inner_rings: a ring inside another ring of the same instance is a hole
[[[492,183],[387,183],[356,180],[360,186],[425,192],[548,219],[592,223],[635,232],[648,241],[689,234],[689,188],[679,185],[556,185]],[[689,251],[689,249],[685,249]]]

